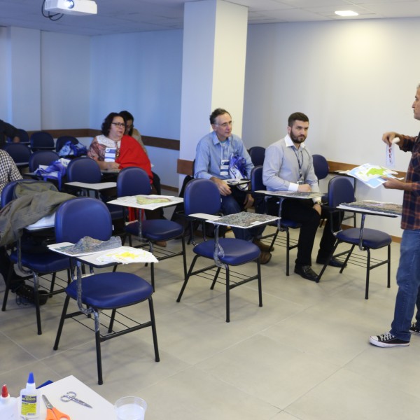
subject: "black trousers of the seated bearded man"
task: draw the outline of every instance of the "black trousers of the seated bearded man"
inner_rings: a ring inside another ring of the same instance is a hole
[[[277,215],[279,212],[279,205],[276,204],[278,200],[269,200],[268,214]],[[290,221],[295,221],[302,224],[299,232],[299,239],[297,243],[297,258],[296,265],[311,265],[312,248],[314,248],[314,239],[316,230],[318,229],[321,216],[313,208],[314,202],[312,200],[298,200],[286,199],[283,200],[281,206],[281,217]],[[323,235],[319,243],[318,258],[325,259],[332,251],[335,244],[335,236],[332,235],[330,228],[330,214],[322,208],[321,215],[326,218],[327,222],[323,228]],[[334,230],[338,230],[341,222],[339,214],[334,218]]]

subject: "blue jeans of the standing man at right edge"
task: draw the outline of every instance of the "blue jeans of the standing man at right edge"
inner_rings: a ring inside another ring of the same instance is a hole
[[[420,327],[420,230],[402,232],[397,284],[398,293],[390,332],[399,339],[409,341],[409,328],[416,306],[416,323]]]

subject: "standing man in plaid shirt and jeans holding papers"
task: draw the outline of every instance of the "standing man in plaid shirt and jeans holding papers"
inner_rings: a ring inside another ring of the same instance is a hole
[[[420,85],[412,104],[414,118],[420,120]],[[420,335],[420,134],[416,137],[387,132],[382,140],[391,145],[399,138],[398,146],[403,152],[411,152],[405,181],[386,178],[385,188],[404,191],[402,201],[400,265],[397,272],[398,293],[395,300],[391,330],[381,335],[372,335],[369,342],[379,347],[408,346],[411,334]],[[416,321],[412,323],[414,308]]]

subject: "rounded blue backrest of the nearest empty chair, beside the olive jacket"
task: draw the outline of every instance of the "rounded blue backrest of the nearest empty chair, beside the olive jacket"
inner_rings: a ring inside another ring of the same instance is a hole
[[[55,213],[57,242],[76,244],[85,236],[107,241],[112,235],[108,207],[96,198],[77,197],[62,203]]]

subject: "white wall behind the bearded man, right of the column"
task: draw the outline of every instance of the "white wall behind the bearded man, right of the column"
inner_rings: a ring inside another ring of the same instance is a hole
[[[243,139],[268,146],[290,113],[309,116],[307,146],[328,160],[384,165],[384,131],[416,135],[411,104],[420,83],[419,19],[250,25]],[[396,169],[410,156],[397,153]],[[326,188],[326,186],[324,186]],[[402,202],[399,191],[358,183],[360,200]],[[400,236],[399,221],[368,224]]]

